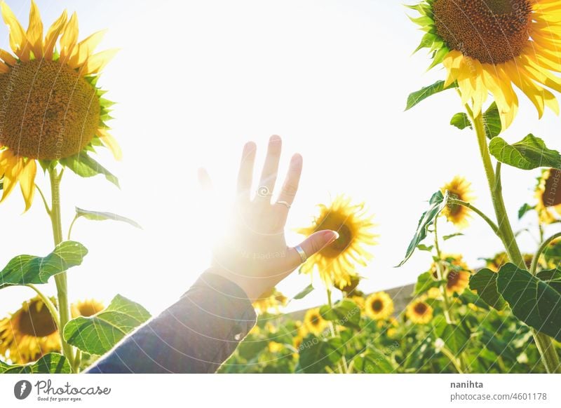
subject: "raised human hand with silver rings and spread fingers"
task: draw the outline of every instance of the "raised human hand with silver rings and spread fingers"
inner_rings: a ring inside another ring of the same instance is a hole
[[[257,147],[253,142],[245,144],[230,225],[212,251],[213,272],[236,283],[251,301],[302,264],[298,249],[304,251],[304,258],[311,257],[339,237],[336,231],[325,230],[313,233],[297,247],[286,244],[285,224],[298,189],[302,156],[292,156],[278,200],[271,203],[281,147],[280,137],[271,136],[257,193],[251,198]],[[203,169],[199,181],[203,186],[210,184]]]

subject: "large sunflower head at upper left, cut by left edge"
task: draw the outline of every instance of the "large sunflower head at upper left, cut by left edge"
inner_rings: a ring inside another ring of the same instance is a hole
[[[87,153],[97,146],[108,147],[115,158],[121,158],[119,145],[104,123],[111,118],[111,102],[95,85],[116,50],[93,54],[104,32],[78,42],[76,13],[68,18],[64,11],[43,38],[43,22],[33,0],[27,31],[4,1],[0,6],[15,54],[0,50],[0,176],[4,177],[0,201],[19,182],[28,210],[35,191],[36,161],[44,169],[60,163],[75,170],[86,161],[93,168],[97,163]]]

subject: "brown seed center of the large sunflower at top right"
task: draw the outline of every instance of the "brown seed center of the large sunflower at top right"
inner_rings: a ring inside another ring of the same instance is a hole
[[[512,60],[529,39],[530,0],[435,0],[433,12],[447,46],[480,62]]]

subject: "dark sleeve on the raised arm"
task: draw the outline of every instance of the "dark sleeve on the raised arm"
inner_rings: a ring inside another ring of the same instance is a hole
[[[245,292],[209,270],[86,373],[212,373],[253,325],[255,311]]]

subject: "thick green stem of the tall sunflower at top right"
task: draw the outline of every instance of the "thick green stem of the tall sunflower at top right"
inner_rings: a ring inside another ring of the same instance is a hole
[[[508,219],[506,207],[504,205],[501,186],[501,165],[497,163],[496,170],[493,170],[491,155],[489,154],[489,147],[487,146],[483,116],[482,114],[473,116],[473,111],[471,111],[467,104],[466,110],[468,111],[469,116],[471,116],[473,127],[475,128],[475,135],[477,135],[483,168],[485,169],[485,175],[487,176],[489,191],[491,192],[491,200],[493,203],[497,225],[499,227],[499,238],[501,238],[501,241],[503,242],[508,259],[510,259],[510,261],[519,268],[526,270],[527,267],[524,258],[522,257],[522,253],[520,252],[520,248],[516,242],[513,228]],[[537,264],[539,254],[536,255]],[[534,259],[532,259],[532,263],[533,261]],[[541,360],[543,365],[546,367],[546,371],[549,373],[561,373],[559,356],[557,355],[557,351],[555,350],[555,346],[553,345],[551,338],[546,334],[538,332],[536,329],[532,329],[532,335],[534,336],[536,347],[541,355]]]

